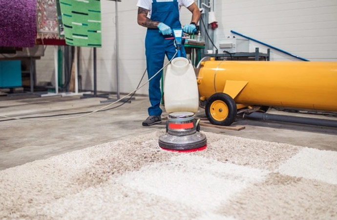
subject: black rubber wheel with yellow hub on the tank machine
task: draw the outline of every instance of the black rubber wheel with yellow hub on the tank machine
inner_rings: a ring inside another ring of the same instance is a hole
[[[226,93],[215,93],[207,100],[205,112],[213,125],[229,126],[236,118],[236,103]]]

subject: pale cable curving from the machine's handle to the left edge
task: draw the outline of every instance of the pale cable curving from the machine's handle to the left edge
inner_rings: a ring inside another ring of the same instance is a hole
[[[100,108],[100,109],[97,109],[97,110],[94,110],[94,111],[90,111],[90,112],[87,112],[87,113],[85,113],[85,114],[83,114],[83,115],[79,115],[79,116],[73,116],[73,117],[66,117],[66,118],[53,118],[53,119],[28,119],[28,118],[17,118],[17,117],[10,117],[10,116],[6,116],[6,115],[0,115],[0,117],[2,117],[2,118],[8,118],[8,119],[11,119],[11,120],[24,120],[24,121],[59,121],[59,120],[69,120],[69,119],[74,119],[74,118],[81,118],[81,117],[84,117],[84,116],[88,116],[88,115],[90,115],[90,114],[93,114],[93,113],[95,113],[95,112],[99,112],[99,111],[103,111],[104,109],[106,109],[107,107],[109,107],[109,106],[112,106],[113,104],[115,104],[115,103],[117,103],[117,102],[119,102],[119,101],[121,101],[121,100],[123,100],[123,99],[125,99],[126,97],[128,97],[128,96],[130,96],[130,95],[134,95],[134,93],[136,92],[136,91],[138,91],[139,89],[141,89],[141,88],[143,88],[145,85],[147,85],[147,83],[148,82],[150,82],[156,75],[158,75],[166,66],[168,66],[170,63],[171,63],[171,61],[175,58],[175,56],[177,55],[177,53],[178,53],[178,50],[176,50],[175,51],[175,54],[173,55],[173,57],[172,57],[172,59],[171,60],[169,60],[169,62],[167,63],[167,64],[165,64],[158,72],[156,72],[151,78],[149,78],[142,86],[140,86],[140,87],[138,87],[138,88],[136,88],[135,90],[133,90],[133,91],[131,91],[130,93],[128,93],[126,96],[124,96],[124,97],[122,97],[122,98],[120,98],[120,99],[118,99],[117,101],[115,101],[115,102],[113,102],[113,103],[110,103],[109,105],[107,105],[107,106],[104,106],[104,107],[102,107],[102,108]],[[133,94],[132,94],[133,93]],[[131,97],[132,97],[131,96]],[[129,100],[130,100],[131,98],[129,98]],[[128,101],[128,100],[127,100]],[[126,101],[126,102],[127,102]],[[126,103],[125,102],[125,103]],[[123,104],[121,104],[121,105],[124,105],[125,103],[123,103]],[[119,106],[118,106],[119,107]],[[117,108],[117,107],[114,107],[113,109],[115,109],[115,108]],[[72,113],[72,114],[79,114],[79,113]],[[57,115],[58,116],[58,115]],[[43,117],[43,116],[42,116]],[[6,120],[3,120],[3,121],[6,121]]]

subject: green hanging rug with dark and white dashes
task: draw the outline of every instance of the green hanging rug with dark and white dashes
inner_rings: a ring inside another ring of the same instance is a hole
[[[101,1],[60,0],[65,42],[102,47]]]

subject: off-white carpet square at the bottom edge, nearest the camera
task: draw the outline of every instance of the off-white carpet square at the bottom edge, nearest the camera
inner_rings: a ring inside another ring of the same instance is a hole
[[[201,214],[114,181],[42,204],[35,212],[43,213],[44,220],[189,220]]]

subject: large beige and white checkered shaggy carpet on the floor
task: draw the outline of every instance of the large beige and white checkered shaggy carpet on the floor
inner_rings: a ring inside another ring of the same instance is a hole
[[[0,171],[0,219],[337,219],[337,152],[205,133],[178,154],[161,134]]]

